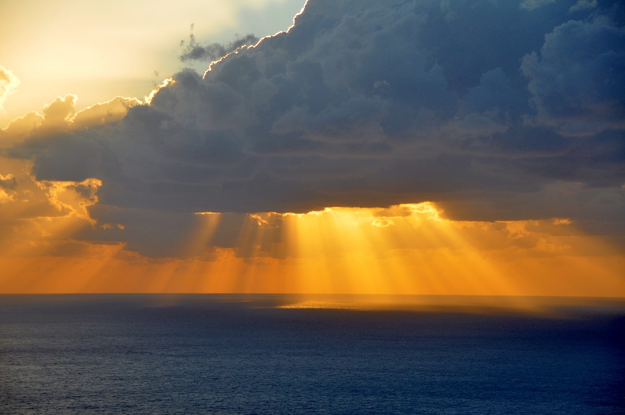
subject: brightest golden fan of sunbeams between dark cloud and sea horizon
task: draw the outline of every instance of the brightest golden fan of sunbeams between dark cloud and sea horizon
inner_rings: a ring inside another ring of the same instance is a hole
[[[334,207],[284,218],[291,231],[287,245],[297,257],[318,260],[317,267],[299,269],[302,281],[319,281],[310,292],[517,292],[430,202],[391,209]],[[479,279],[472,283],[467,274]]]

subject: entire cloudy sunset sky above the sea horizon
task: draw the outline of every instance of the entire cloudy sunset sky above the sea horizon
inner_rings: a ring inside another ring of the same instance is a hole
[[[36,4],[0,292],[625,296],[619,2]]]

